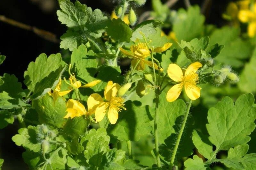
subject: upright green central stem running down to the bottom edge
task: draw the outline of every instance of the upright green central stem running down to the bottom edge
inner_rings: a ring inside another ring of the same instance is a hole
[[[156,163],[158,169],[161,169],[159,148],[158,148],[158,132],[157,132],[157,122],[158,122],[158,104],[159,104],[159,94],[158,89],[156,89],[156,110],[155,110],[155,121],[154,121],[154,131],[155,131],[155,147],[156,147]]]

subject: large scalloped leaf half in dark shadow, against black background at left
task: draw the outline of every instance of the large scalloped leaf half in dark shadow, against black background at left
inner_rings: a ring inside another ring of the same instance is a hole
[[[24,83],[30,91],[34,92],[32,98],[43,95],[47,88],[54,90],[57,85],[55,81],[58,81],[63,69],[64,64],[60,53],[52,54],[48,58],[42,53],[35,62],[30,62],[27,71],[24,72]]]

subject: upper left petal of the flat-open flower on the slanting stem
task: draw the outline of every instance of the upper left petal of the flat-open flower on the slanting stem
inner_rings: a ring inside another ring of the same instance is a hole
[[[170,64],[167,70],[168,76],[176,82],[180,82],[183,80],[183,73],[177,64]]]

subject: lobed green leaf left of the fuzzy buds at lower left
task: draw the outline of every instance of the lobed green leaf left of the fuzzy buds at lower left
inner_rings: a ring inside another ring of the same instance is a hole
[[[36,127],[28,126],[28,128],[21,128],[17,135],[12,137],[12,141],[18,146],[23,146],[33,152],[39,152],[41,144],[37,142]]]

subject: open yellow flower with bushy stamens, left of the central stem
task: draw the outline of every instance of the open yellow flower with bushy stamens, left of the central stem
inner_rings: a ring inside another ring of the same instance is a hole
[[[104,91],[105,101],[98,93],[90,95],[87,103],[88,107],[90,106],[92,109],[91,112],[95,113],[96,121],[100,122],[108,110],[108,120],[111,124],[115,124],[118,119],[118,112],[122,109],[126,110],[123,104],[124,99],[117,96],[120,87],[119,84],[108,81]]]

